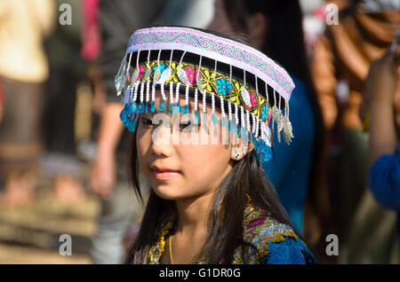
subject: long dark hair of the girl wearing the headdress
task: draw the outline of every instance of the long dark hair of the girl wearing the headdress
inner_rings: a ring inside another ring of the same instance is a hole
[[[140,168],[137,161],[136,133],[133,134],[130,168],[135,192],[143,201],[139,184]],[[233,169],[215,192],[208,220],[207,239],[200,253],[197,254],[197,258],[204,258],[206,263],[230,263],[236,247],[246,245],[252,247],[243,239],[242,224],[247,194],[252,198],[254,207],[267,211],[270,217],[292,227],[293,231],[300,236],[280,204],[276,191],[269,183],[255,151],[252,151],[242,160],[235,162]],[[176,218],[175,201],[164,200],[151,191],[139,235],[126,262],[147,263],[149,249],[156,244],[161,229],[168,221]],[[223,258],[222,261],[221,258]]]

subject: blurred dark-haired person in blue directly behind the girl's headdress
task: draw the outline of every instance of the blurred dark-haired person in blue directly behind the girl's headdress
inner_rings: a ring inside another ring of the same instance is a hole
[[[209,28],[250,41],[292,76],[296,88],[289,106],[294,138],[288,146],[278,143],[274,135],[273,155],[279,158],[273,158],[264,169],[296,228],[321,249],[317,245],[324,240],[323,224],[329,224],[324,125],[308,70],[299,1],[216,0]],[[309,212],[304,218],[306,206]]]

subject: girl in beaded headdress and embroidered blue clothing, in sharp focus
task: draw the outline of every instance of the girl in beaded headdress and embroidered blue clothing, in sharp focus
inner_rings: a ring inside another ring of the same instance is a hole
[[[141,198],[142,172],[151,192],[128,263],[315,262],[261,167],[269,125],[291,142],[293,88],[282,67],[224,35],[132,35],[116,90],[135,190]]]

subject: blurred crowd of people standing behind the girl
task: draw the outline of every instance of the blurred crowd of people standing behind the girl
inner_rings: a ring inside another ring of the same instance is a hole
[[[56,202],[95,195],[92,262],[124,262],[143,211],[114,76],[151,24],[235,35],[282,65],[295,138],[264,169],[292,222],[320,262],[400,262],[397,0],[5,0],[0,23],[0,205],[34,203],[43,176]]]

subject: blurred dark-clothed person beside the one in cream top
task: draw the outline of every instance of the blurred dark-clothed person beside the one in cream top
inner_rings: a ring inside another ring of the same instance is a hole
[[[81,57],[83,7],[81,1],[54,0],[56,7],[71,7],[71,25],[55,25],[45,41],[50,75],[44,111],[46,153],[41,163],[53,179],[55,200],[72,203],[84,198],[82,164],[76,155],[76,92],[84,81],[86,65]]]

